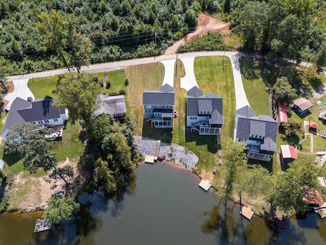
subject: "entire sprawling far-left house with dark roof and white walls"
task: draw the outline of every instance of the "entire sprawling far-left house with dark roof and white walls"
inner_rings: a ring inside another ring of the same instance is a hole
[[[40,127],[63,126],[68,120],[68,109],[57,108],[52,104],[53,99],[50,96],[33,102],[16,97],[11,104],[1,136],[6,139],[6,134],[11,126],[25,122],[31,122]],[[58,130],[62,130],[62,127],[59,127]]]

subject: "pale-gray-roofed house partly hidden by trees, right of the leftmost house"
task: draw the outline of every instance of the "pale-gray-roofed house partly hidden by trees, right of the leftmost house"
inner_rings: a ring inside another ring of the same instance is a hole
[[[96,116],[105,113],[108,115],[113,115],[116,120],[122,120],[126,117],[127,109],[123,94],[100,94],[97,96],[97,100],[100,101],[100,107],[94,112]]]

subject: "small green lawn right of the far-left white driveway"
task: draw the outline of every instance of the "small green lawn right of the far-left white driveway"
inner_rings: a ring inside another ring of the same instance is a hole
[[[52,91],[56,89],[58,79],[58,76],[30,79],[28,82],[28,87],[34,94],[35,100],[44,99],[46,95],[55,97],[56,95],[53,94]]]

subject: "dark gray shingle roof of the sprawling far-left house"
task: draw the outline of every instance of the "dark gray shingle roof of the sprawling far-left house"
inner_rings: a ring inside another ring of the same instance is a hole
[[[2,131],[3,133],[11,126],[46,119],[60,118],[65,110],[52,106],[52,97],[46,96],[44,100],[28,102],[19,97],[12,102],[8,116]]]

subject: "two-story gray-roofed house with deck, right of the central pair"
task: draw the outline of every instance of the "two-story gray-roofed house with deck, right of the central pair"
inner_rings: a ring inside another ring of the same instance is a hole
[[[188,131],[199,134],[221,134],[223,120],[223,100],[216,93],[204,95],[197,86],[187,91],[186,126]]]

